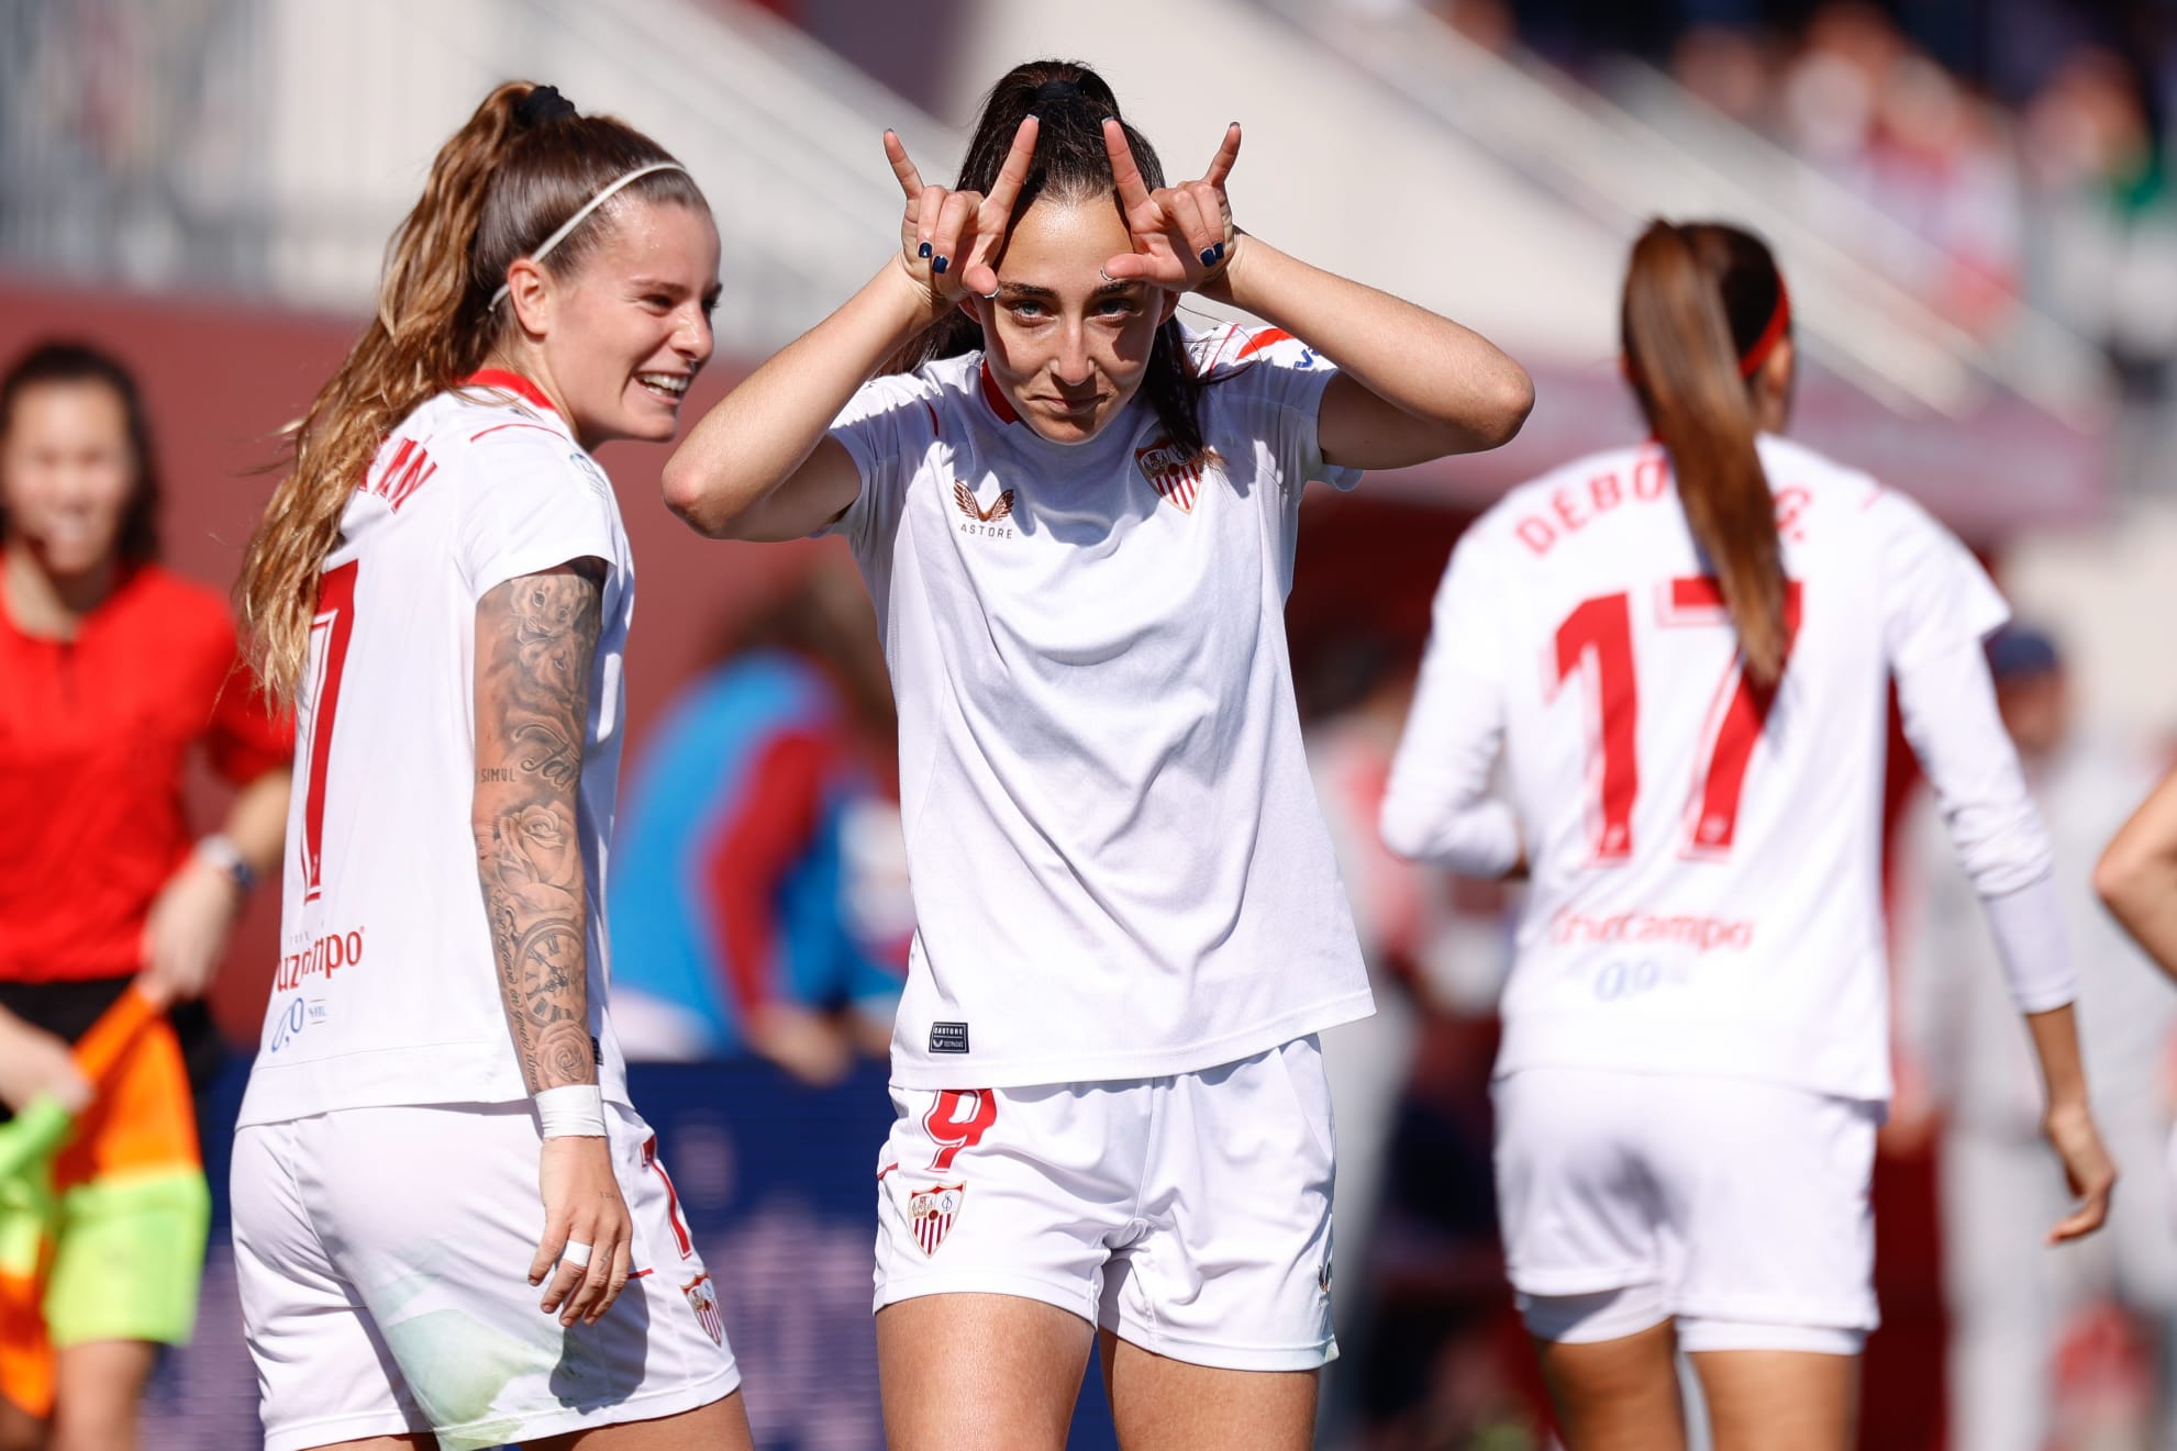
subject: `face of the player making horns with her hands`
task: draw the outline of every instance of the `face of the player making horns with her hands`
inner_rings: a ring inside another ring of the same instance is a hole
[[[1056,444],[1093,439],[1117,418],[1178,307],[1163,287],[1104,281],[1104,263],[1130,250],[1110,196],[1036,198],[997,261],[997,296],[964,302],[1006,402]]]

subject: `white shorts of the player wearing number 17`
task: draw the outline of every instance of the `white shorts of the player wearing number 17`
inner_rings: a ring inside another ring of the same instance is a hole
[[[1585,1068],[1526,1068],[1493,1099],[1504,1268],[1535,1336],[1676,1320],[1687,1351],[1859,1353],[1879,1103]]]

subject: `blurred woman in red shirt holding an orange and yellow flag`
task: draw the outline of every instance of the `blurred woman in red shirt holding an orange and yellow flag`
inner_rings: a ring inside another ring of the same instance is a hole
[[[44,344],[0,379],[0,1109],[78,1109],[44,1192],[0,1186],[0,1447],[137,1444],[161,1344],[189,1338],[211,1214],[176,1029],[98,1081],[70,1044],[131,981],[194,1005],[279,861],[292,735],[226,600],[157,563],[159,466],[135,379]],[[235,787],[196,838],[202,751]],[[176,1020],[209,1044],[202,1014]],[[194,1025],[194,1029],[192,1029]],[[41,1425],[44,1423],[44,1425]]]

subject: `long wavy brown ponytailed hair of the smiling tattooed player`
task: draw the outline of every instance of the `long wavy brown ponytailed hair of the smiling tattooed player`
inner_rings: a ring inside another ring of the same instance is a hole
[[[490,357],[512,307],[492,307],[507,268],[627,172],[673,157],[640,131],[581,115],[551,87],[501,85],[440,148],[416,209],[394,228],[379,318],[348,350],[287,439],[287,476],[250,535],[235,585],[250,664],[266,692],[294,705],[309,659],[318,574],[340,544],[340,516],[385,435],[418,405],[457,387]],[[708,215],[684,172],[653,172],[625,196]],[[612,207],[581,222],[540,263],[568,276],[607,235]]]

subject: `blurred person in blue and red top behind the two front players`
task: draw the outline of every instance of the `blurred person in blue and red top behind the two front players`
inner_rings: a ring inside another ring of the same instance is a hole
[[[631,1059],[760,1053],[805,1083],[884,1057],[906,975],[897,722],[869,596],[801,574],[666,709],[612,875]]]

